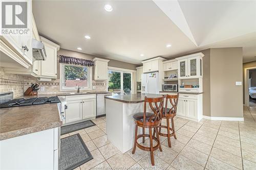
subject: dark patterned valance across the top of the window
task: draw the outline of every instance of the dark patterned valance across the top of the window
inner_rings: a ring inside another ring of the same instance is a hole
[[[82,65],[82,66],[93,66],[94,65],[94,62],[91,60],[68,57],[68,56],[63,56],[63,55],[58,55],[58,57],[59,57],[59,63],[75,64],[75,65]]]

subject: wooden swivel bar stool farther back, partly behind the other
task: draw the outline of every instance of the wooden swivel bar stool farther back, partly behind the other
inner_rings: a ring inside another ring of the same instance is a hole
[[[175,134],[175,129],[174,129],[174,117],[176,116],[176,112],[177,112],[178,99],[179,99],[179,94],[176,94],[176,95],[166,94],[166,96],[165,96],[165,107],[163,108],[164,111],[163,111],[162,118],[166,119],[167,126],[162,126],[160,124],[159,131],[158,131],[159,135],[167,137],[168,146],[170,148],[172,147],[172,145],[170,144],[170,137],[174,136],[174,138],[177,139],[176,134]],[[171,108],[167,108],[168,102],[170,102],[170,107]],[[169,119],[172,122],[172,128],[170,128]],[[167,134],[161,133],[161,128],[167,129]],[[158,130],[158,129],[156,129],[156,130]],[[155,136],[155,130],[154,130],[153,135]]]

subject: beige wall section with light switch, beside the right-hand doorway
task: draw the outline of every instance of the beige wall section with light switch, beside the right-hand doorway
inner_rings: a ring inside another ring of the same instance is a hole
[[[242,47],[211,48],[210,50],[210,98],[211,116],[243,117]]]

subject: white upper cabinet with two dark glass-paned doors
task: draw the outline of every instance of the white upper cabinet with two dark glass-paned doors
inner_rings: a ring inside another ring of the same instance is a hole
[[[203,56],[202,53],[197,53],[177,58],[179,79],[202,78]]]

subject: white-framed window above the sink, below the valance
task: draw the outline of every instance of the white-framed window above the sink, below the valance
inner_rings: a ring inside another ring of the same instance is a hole
[[[91,89],[92,68],[81,65],[60,64],[62,90]]]

